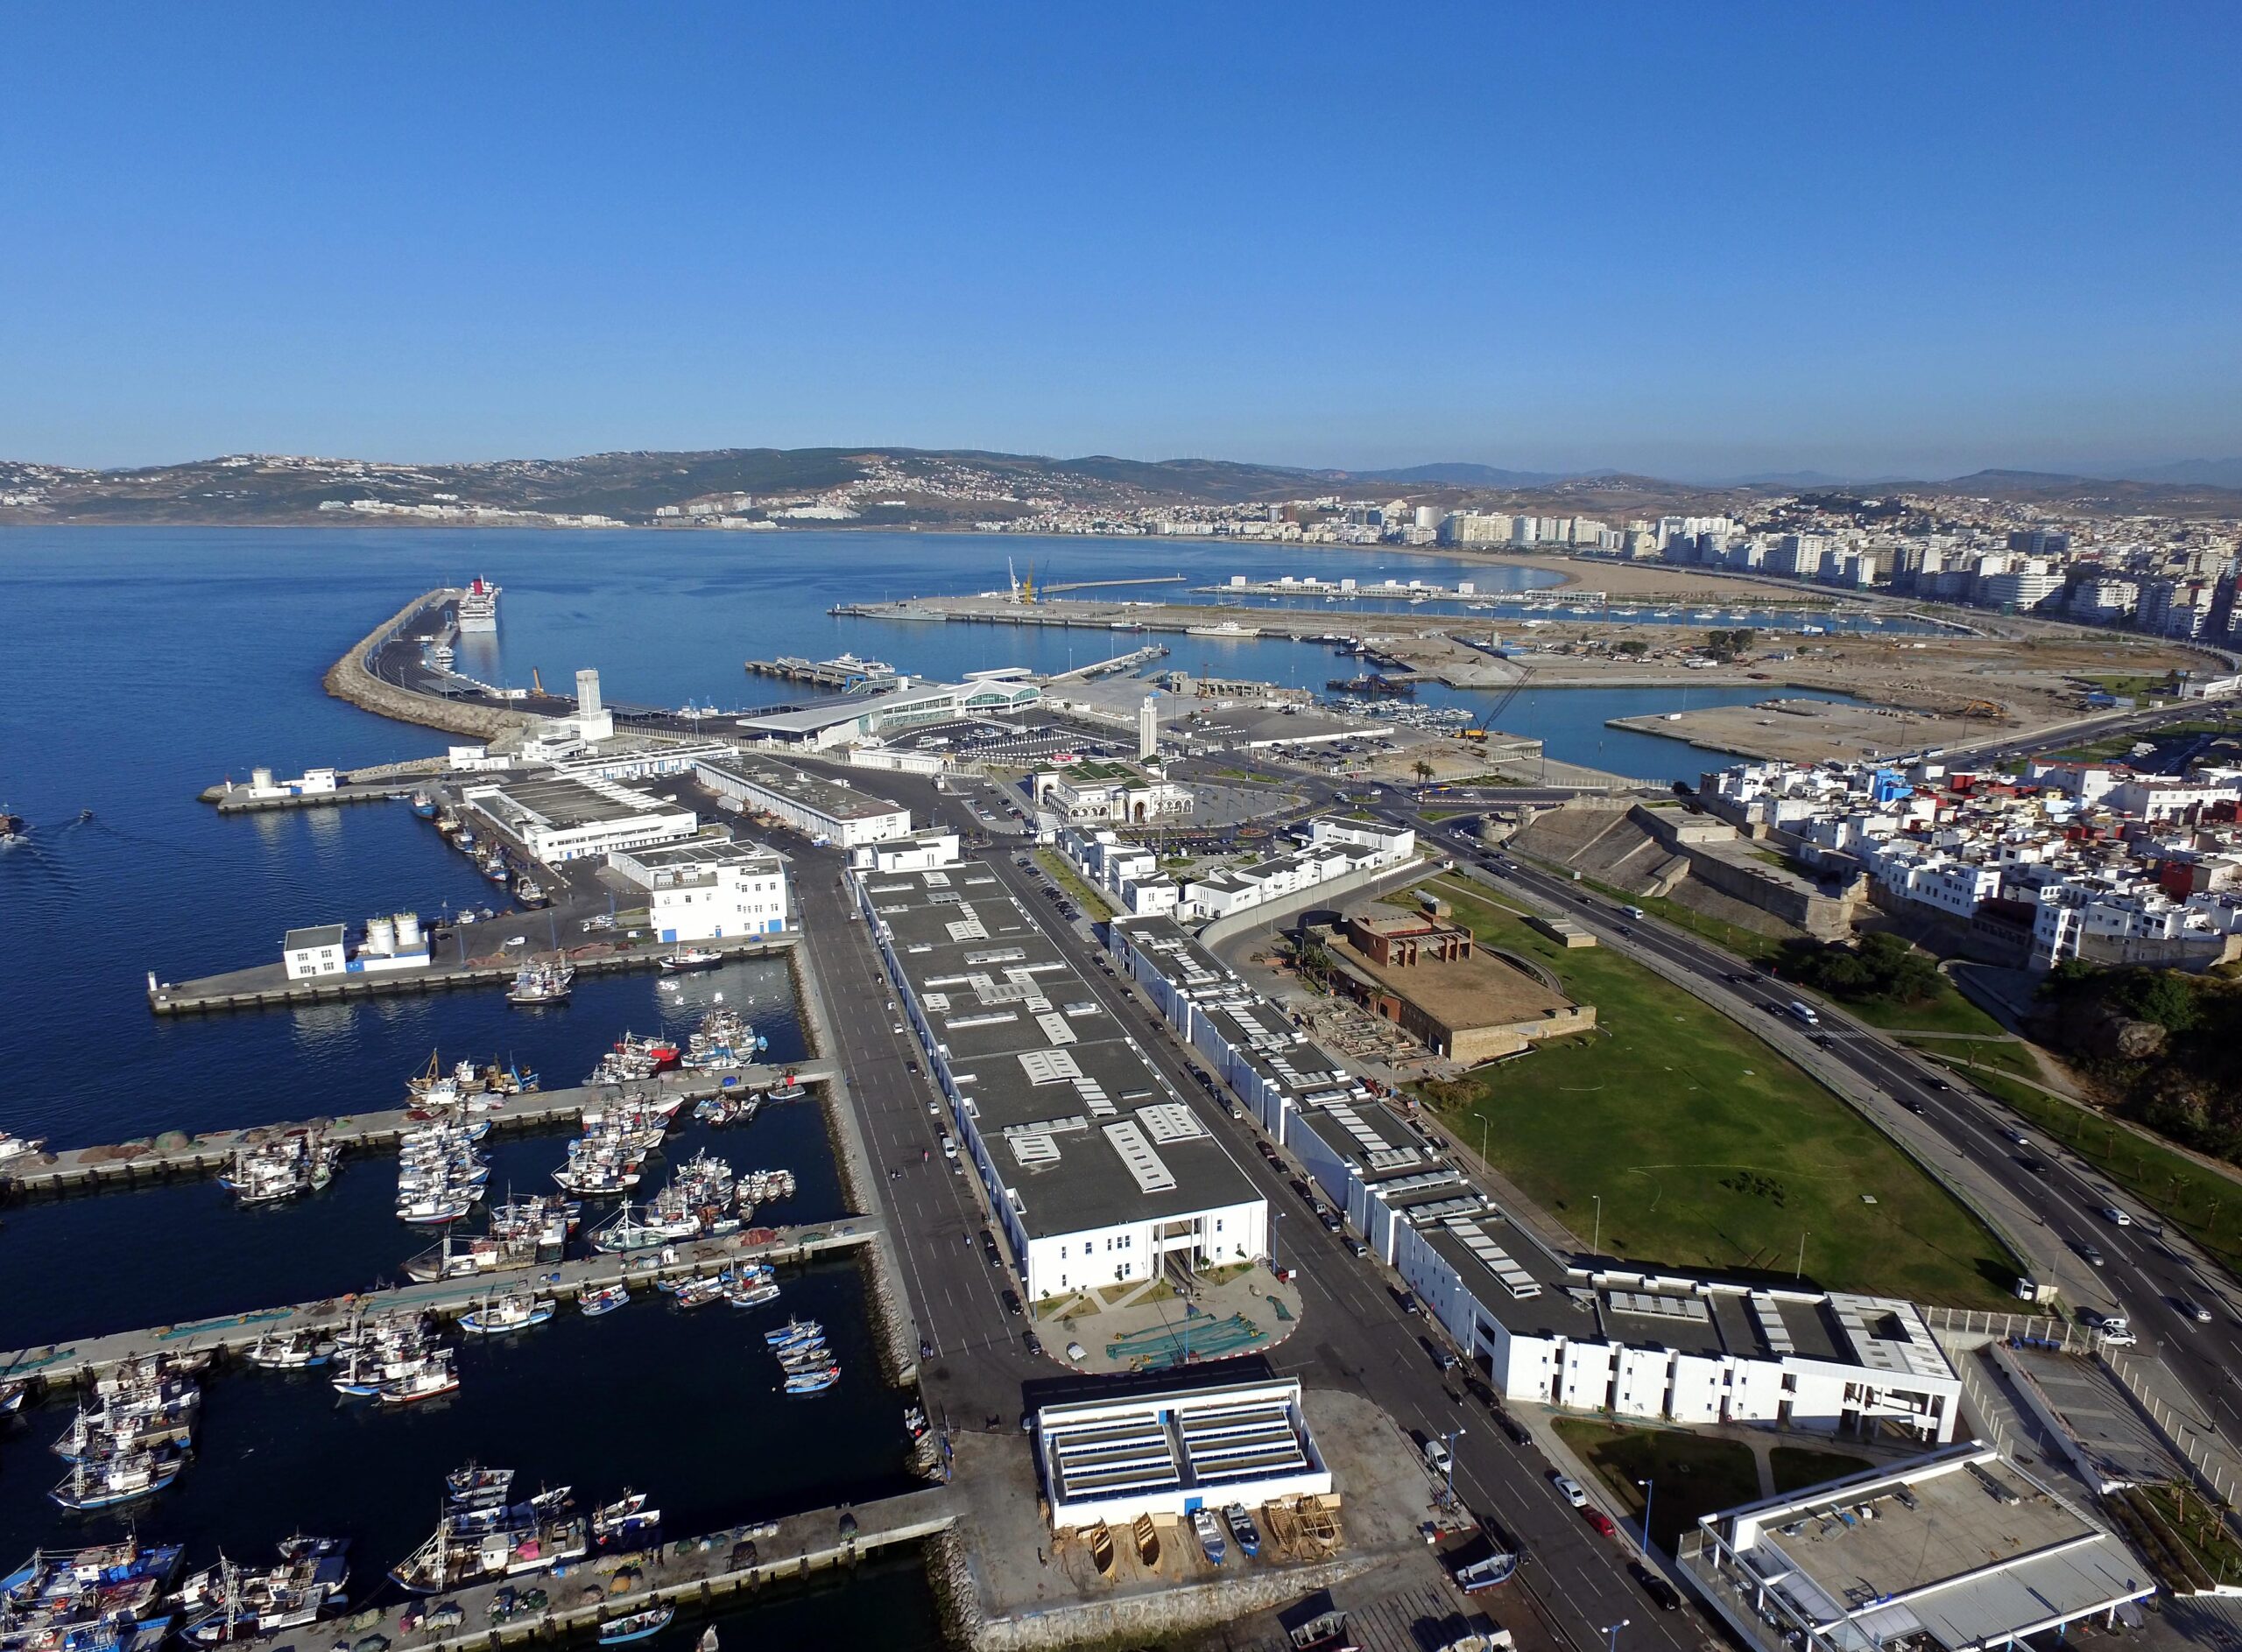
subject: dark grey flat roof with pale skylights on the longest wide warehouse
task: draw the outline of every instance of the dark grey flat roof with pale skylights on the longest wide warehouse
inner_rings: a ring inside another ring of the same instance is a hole
[[[1152,1071],[986,867],[861,876],[1031,1237],[1262,1201],[1199,1105]],[[1152,1107],[1166,1112],[1148,1116]],[[1173,1186],[1139,1184],[1108,1134],[1123,1123],[1150,1145],[1155,1179]],[[1007,1132],[1025,1139],[1025,1159]]]

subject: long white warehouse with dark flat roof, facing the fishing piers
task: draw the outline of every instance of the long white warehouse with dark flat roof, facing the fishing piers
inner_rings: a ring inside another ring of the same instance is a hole
[[[850,872],[1029,1300],[1269,1253],[1269,1206],[986,867]]]

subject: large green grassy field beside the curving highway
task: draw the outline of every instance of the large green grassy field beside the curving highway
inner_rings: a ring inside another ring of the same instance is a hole
[[[1599,1031],[1460,1080],[1442,1112],[1608,1253],[1955,1307],[2007,1300],[2007,1249],[1845,1103],[1726,1015],[1601,946],[1569,950],[1439,879],[1460,921],[1547,964]],[[1874,1199],[1870,1204],[1868,1199]]]

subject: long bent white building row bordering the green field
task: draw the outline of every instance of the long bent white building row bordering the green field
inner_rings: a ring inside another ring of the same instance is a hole
[[[1563,1257],[1511,1222],[1435,1130],[1374,1098],[1173,921],[1114,919],[1108,948],[1504,1396],[1953,1439],[1962,1383],[1915,1305]]]

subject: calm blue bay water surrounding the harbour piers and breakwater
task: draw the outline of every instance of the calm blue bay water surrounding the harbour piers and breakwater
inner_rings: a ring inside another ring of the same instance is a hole
[[[574,1083],[621,1031],[691,1020],[715,991],[747,1004],[776,1058],[798,1056],[787,971],[773,964],[693,977],[684,1006],[668,1006],[679,995],[650,975],[590,980],[572,1004],[545,1013],[511,1011],[495,993],[448,993],[157,1020],[143,986],[148,971],[182,980],[271,959],[298,924],[491,901],[464,856],[404,805],[222,820],[195,796],[258,762],[298,773],[437,751],[442,735],[318,688],[356,637],[430,585],[473,574],[504,585],[500,632],[464,639],[462,670],[520,686],[538,672],[558,686],[599,666],[610,699],[650,706],[767,702],[769,684],[758,693],[742,661],[778,652],[852,650],[953,677],[1004,663],[1054,670],[1125,646],[1056,628],[825,614],[839,601],[1002,587],[1007,558],[1022,572],[1034,560],[1038,581],[1392,574],[1473,578],[1482,592],[1542,581],[1363,551],[998,536],[0,531],[9,616],[0,802],[31,823],[29,843],[0,854],[0,1125],[78,1145],[388,1107],[430,1051],[446,1062],[495,1056]],[[1099,594],[1186,598],[1173,585]],[[1370,607],[1323,612],[1334,630],[1356,630]],[[1350,670],[1312,643],[1177,637],[1170,646],[1166,663],[1193,672],[1321,686]],[[1482,711],[1502,702],[1435,697]],[[1690,690],[1690,704],[1720,697]],[[1693,776],[1704,753],[1603,726],[1673,702],[1650,690],[1540,690],[1502,702],[1500,726],[1540,735],[1556,758]],[[740,1168],[785,1166],[800,1177],[796,1199],[771,1217],[839,1210],[814,1107],[700,1134]],[[670,1159],[697,1139],[673,1141]],[[493,1186],[543,1190],[560,1139],[498,1136],[491,1150]],[[426,1237],[388,1213],[390,1179],[392,1163],[370,1154],[345,1163],[323,1197],[287,1210],[235,1210],[211,1184],[7,1208],[0,1345],[191,1322],[397,1278]],[[816,1410],[769,1392],[773,1372],[751,1336],[758,1316],[679,1316],[657,1302],[596,1322],[563,1314],[518,1340],[471,1347],[462,1394],[406,1414],[336,1405],[316,1379],[224,1376],[211,1385],[197,1461],[137,1511],[139,1526],[191,1538],[206,1562],[220,1542],[256,1556],[296,1526],[341,1524],[359,1538],[370,1578],[426,1535],[437,1475],[471,1455],[587,1495],[634,1484],[682,1533],[899,1484],[897,1399],[877,1381],[856,1273],[805,1271],[787,1282],[782,1307],[823,1318],[850,1365]],[[61,1473],[45,1444],[65,1421],[67,1410],[49,1405],[0,1435],[0,1562],[38,1542],[117,1529],[67,1520],[45,1500]],[[751,1607],[740,1625],[803,1643],[937,1641],[928,1591],[908,1565],[874,1569],[847,1591]]]

